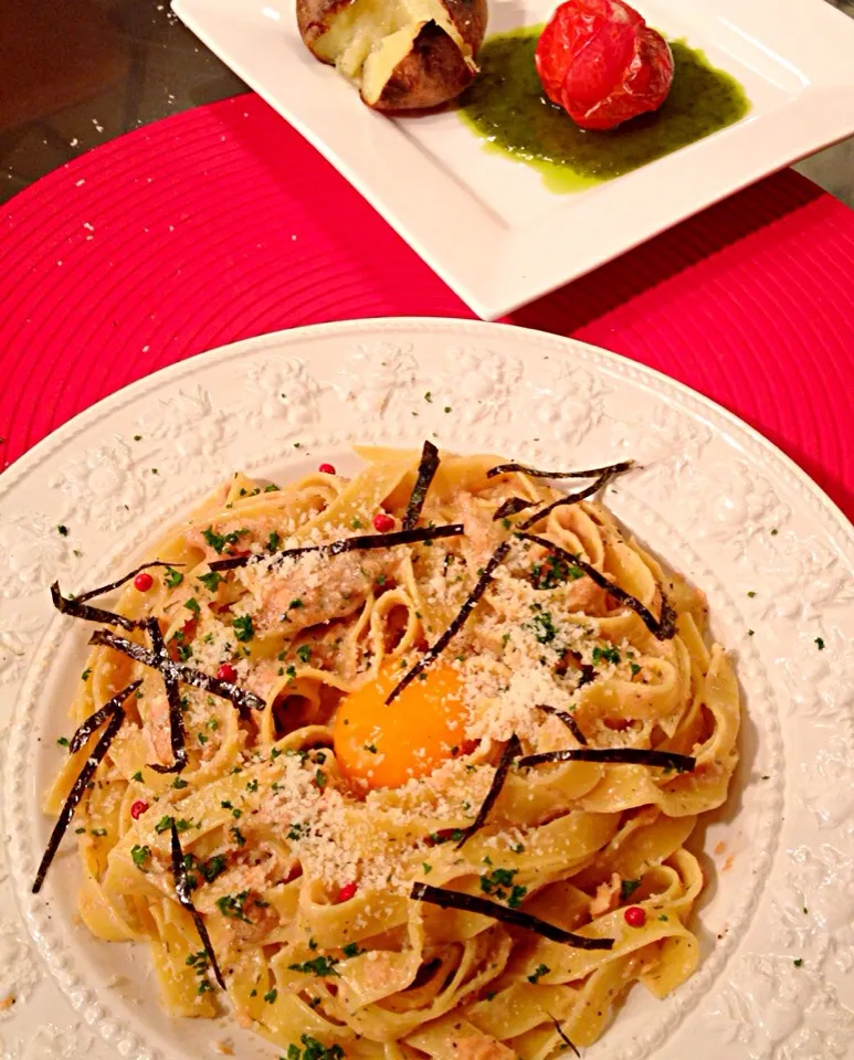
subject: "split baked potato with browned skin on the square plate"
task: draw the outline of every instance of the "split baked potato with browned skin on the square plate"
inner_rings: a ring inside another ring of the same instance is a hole
[[[477,72],[486,0],[296,0],[303,41],[375,110],[436,107]]]

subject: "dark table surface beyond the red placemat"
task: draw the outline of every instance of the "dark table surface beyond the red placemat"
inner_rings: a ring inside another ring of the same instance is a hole
[[[827,0],[854,17],[854,0]],[[245,92],[167,0],[0,0],[0,201],[83,151]],[[854,138],[798,169],[854,205]]]

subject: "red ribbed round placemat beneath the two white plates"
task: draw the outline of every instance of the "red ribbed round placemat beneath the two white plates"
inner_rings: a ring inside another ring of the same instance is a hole
[[[0,455],[280,328],[472,314],[256,96],[98,148],[0,213]],[[854,213],[784,171],[507,318],[660,369],[854,516]]]

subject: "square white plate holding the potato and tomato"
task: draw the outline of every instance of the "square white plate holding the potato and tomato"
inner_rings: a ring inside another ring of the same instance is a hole
[[[299,39],[295,0],[173,0],[176,13],[298,129],[481,317],[494,319],[854,132],[854,21],[825,0],[642,0],[744,85],[739,123],[573,194],[484,151],[453,112],[369,110]],[[492,0],[489,33],[556,0]],[[369,251],[366,248],[366,253]]]

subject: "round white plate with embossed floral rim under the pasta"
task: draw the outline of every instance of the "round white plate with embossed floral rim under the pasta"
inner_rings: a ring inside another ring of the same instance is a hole
[[[702,586],[744,698],[726,805],[692,842],[702,960],[664,1000],[635,985],[591,1058],[854,1057],[854,533],[778,449],[678,383],[583,343],[484,324],[369,320],[263,336],[143,380],[66,424],[0,484],[2,1060],[282,1052],[228,1020],[167,1018],[147,948],[89,936],[66,840],[40,895],[87,630],[49,585],[129,570],[235,469],[284,483],[354,443],[534,466],[634,458],[608,492]],[[57,528],[64,528],[60,532]],[[66,849],[67,848],[67,849]]]

